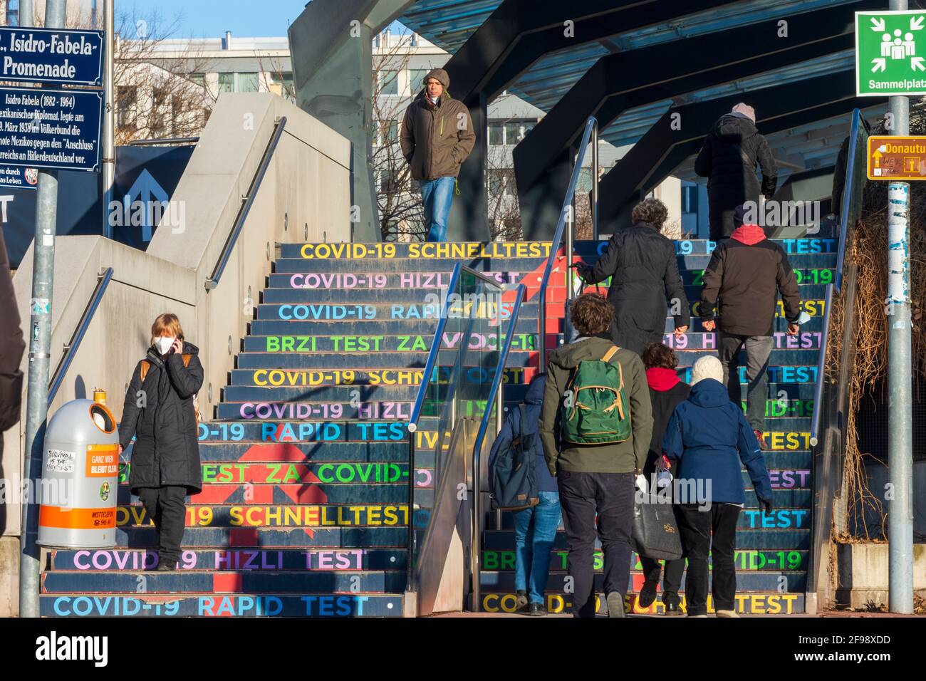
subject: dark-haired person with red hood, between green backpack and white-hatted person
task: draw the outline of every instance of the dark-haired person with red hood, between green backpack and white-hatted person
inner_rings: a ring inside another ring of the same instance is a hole
[[[644,348],[643,364],[646,367],[646,384],[649,385],[649,399],[653,404],[653,438],[649,443],[643,474],[647,484],[656,485],[657,463],[662,460],[662,437],[675,408],[682,404],[691,393],[692,386],[682,383],[675,370],[679,359],[670,347],[661,343],[650,343]],[[676,464],[671,465],[671,473],[676,473]],[[648,608],[656,600],[659,574],[662,566],[659,561],[640,556],[643,566],[644,583],[637,599],[641,608]],[[679,610],[679,588],[682,586],[682,574],[685,571],[685,559],[666,561],[666,574],[662,581],[662,604],[667,615],[682,614]]]

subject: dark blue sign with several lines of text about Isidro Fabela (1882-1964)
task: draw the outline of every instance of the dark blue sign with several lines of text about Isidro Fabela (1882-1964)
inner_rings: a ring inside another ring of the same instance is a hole
[[[0,87],[0,166],[100,167],[99,90]]]

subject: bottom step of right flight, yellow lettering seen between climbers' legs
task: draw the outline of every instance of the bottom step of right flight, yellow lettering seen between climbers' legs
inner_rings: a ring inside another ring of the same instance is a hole
[[[663,614],[665,606],[662,604],[661,595],[648,608],[641,608],[637,604],[636,593],[628,594],[631,599],[631,612],[635,614]],[[682,612],[686,612],[684,594],[682,597]],[[482,612],[517,612],[517,596],[513,592],[489,592],[482,593]],[[804,594],[782,594],[782,593],[737,593],[734,603],[736,612],[740,614],[795,614],[804,612]],[[595,594],[596,613],[598,616],[607,615],[607,602],[604,593]],[[552,614],[569,613],[572,609],[571,594],[557,593],[545,594],[544,606],[546,612]],[[713,600],[707,597],[707,612],[713,613]]]

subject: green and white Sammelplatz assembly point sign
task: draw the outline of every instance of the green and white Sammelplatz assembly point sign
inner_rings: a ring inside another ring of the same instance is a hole
[[[926,11],[856,12],[856,95],[926,95]]]

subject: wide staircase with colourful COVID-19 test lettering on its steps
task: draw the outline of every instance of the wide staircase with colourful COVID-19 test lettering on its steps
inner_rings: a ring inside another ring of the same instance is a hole
[[[579,242],[576,253],[594,262],[604,246]],[[678,243],[692,301],[699,297],[711,246]],[[783,334],[783,319],[776,321],[765,453],[776,510],[766,517],[757,511],[744,473],[749,489],[736,558],[737,607],[743,612],[804,609],[812,497],[807,431],[823,285],[832,276],[836,245],[832,239],[795,239],[782,246],[801,278],[812,320],[796,339]],[[130,496],[123,470],[119,548],[52,551],[42,575],[42,614],[400,616],[409,476],[416,503],[430,507],[433,452],[428,449],[447,435],[435,432],[436,419],[422,418],[413,434],[417,467],[408,470],[406,422],[440,309],[435,296],[457,261],[491,272],[501,283],[527,285],[529,297],[514,330],[505,376],[506,405],[513,405],[537,371],[536,296],[548,247],[535,242],[279,246],[217,420],[199,426],[205,484],[188,504],[178,570],[150,572],[156,565],[155,529]],[[565,298],[560,275],[547,293],[548,334],[561,328]],[[695,320],[692,333],[679,342],[670,328],[667,320],[666,342],[679,352],[680,376],[688,380],[694,360],[715,351],[714,334],[701,332]],[[444,337],[448,345],[455,341],[454,334]],[[509,514],[496,527],[494,513],[487,513],[480,577],[487,612],[514,609],[512,526]],[[562,531],[553,550],[547,606],[568,612]],[[635,591],[643,575],[636,556],[633,560]],[[599,612],[604,610],[601,598]],[[647,611],[634,599],[634,612],[661,610],[658,599]]]

